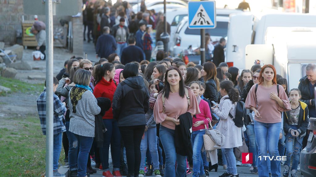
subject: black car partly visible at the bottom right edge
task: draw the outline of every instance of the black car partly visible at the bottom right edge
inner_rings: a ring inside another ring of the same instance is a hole
[[[316,176],[316,118],[310,117],[307,146],[301,151],[300,167],[304,177]]]

